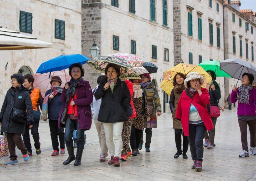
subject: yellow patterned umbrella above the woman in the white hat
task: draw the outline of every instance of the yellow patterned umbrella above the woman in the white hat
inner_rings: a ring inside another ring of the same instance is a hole
[[[180,63],[163,73],[161,88],[170,96],[173,88],[173,77],[177,73],[183,73],[187,76],[189,72],[197,72],[198,75],[204,76],[205,80],[202,87],[209,88],[212,77],[201,67],[187,63]]]

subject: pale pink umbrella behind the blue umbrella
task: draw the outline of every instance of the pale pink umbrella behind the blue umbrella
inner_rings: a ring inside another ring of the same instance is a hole
[[[45,92],[51,88],[50,81],[53,76],[59,76],[61,78],[61,80],[62,80],[61,86],[62,87],[64,87],[64,85],[66,83],[66,78],[67,78],[67,81],[70,81],[70,79],[71,79],[71,77],[68,75],[68,73],[65,70],[51,72],[50,77],[49,77],[49,75],[50,75],[50,73],[34,74],[33,75],[35,78],[33,86],[40,89],[43,97],[44,97]]]

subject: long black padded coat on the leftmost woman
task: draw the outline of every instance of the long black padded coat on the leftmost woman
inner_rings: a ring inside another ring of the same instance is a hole
[[[10,119],[12,113],[12,100],[14,100],[14,108],[23,111],[27,110],[28,123],[18,123]],[[8,132],[14,134],[24,134],[25,124],[34,125],[33,108],[30,93],[25,87],[17,87],[16,91],[14,91],[14,88],[11,87],[7,91],[0,113],[0,122],[2,122],[1,132]]]

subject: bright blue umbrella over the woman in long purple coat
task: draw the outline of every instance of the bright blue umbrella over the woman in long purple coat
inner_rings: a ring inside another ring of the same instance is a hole
[[[81,65],[87,62],[89,58],[81,54],[71,54],[71,55],[60,55],[51,60],[43,62],[36,73],[47,73],[60,71],[63,69],[68,69],[73,63],[80,63]]]

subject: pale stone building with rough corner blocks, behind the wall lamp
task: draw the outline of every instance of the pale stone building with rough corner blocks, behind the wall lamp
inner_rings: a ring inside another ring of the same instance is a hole
[[[150,1],[146,4],[144,1],[131,1],[134,4],[129,4],[129,0],[113,1],[116,4],[111,2],[110,0],[82,1],[82,42],[95,40],[101,56],[117,52],[134,53],[145,62],[155,63],[158,72],[151,74],[151,79],[156,83],[162,106],[165,106],[166,111],[169,110],[168,97],[160,89],[160,84],[163,72],[173,66],[172,1],[166,1],[165,21],[163,17],[165,1],[154,1],[155,4],[150,4]],[[152,12],[155,12],[154,16]],[[115,44],[116,40],[119,41],[118,48]],[[135,49],[131,46],[131,42],[135,42]],[[92,43],[85,43],[82,53],[90,55],[91,46]],[[156,50],[154,56],[153,49]],[[85,65],[85,69],[87,80],[92,87],[96,86],[99,74],[92,71],[88,65]]]

